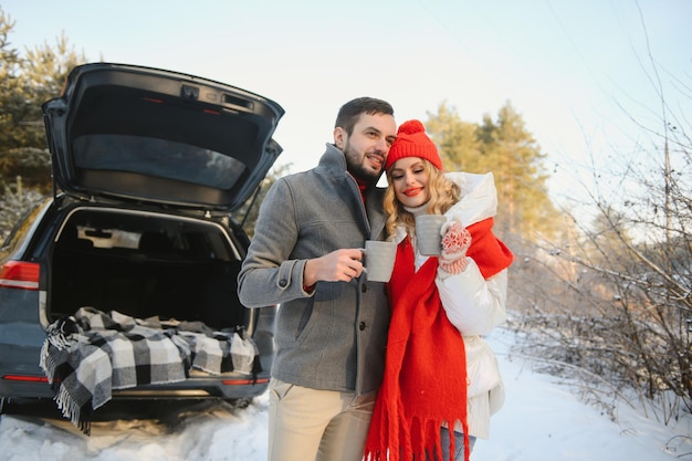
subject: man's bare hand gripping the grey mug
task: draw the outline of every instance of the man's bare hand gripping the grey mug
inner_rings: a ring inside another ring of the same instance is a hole
[[[323,282],[350,282],[363,273],[363,250],[336,250],[305,262],[303,284],[313,286]]]

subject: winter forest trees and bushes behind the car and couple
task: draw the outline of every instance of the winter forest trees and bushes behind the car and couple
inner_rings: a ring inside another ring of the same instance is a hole
[[[13,49],[13,27],[0,8],[0,239],[53,193],[41,104],[87,61],[64,34]],[[511,102],[480,122],[443,102],[423,123],[448,170],[495,176],[497,233],[517,256],[507,327],[523,338],[520,353],[577,378],[583,397],[614,419],[616,401],[637,400],[647,416],[671,421],[692,412],[691,126],[659,91],[653,56],[644,61],[660,101],[649,107],[654,116],[631,118],[641,140],[615,146],[617,163],[596,161],[586,146],[579,190],[559,198],[548,192],[546,154]],[[677,82],[689,98],[690,76]],[[249,234],[264,192],[289,170],[272,170],[238,214],[248,213]]]

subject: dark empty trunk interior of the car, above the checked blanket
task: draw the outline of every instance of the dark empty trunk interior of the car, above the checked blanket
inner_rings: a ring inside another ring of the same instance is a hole
[[[81,208],[54,247],[49,321],[91,306],[218,331],[250,328],[238,300],[235,245],[223,227],[208,221]]]

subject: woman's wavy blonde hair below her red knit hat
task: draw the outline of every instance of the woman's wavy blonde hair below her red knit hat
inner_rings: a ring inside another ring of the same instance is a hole
[[[423,170],[428,174],[428,193],[430,199],[428,200],[427,211],[428,214],[443,214],[461,198],[461,188],[455,184],[447,179],[444,172],[436,168],[430,161],[423,160]],[[394,179],[391,178],[391,170],[387,171],[387,182],[389,186],[385,191],[384,208],[385,214],[387,214],[387,240],[392,240],[397,226],[406,226],[407,232],[412,234],[412,230],[416,227],[416,218],[409,211],[403,209],[403,206],[397,200],[397,195],[394,191]]]

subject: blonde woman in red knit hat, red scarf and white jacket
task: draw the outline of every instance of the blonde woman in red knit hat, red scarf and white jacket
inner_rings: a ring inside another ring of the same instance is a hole
[[[481,338],[505,319],[513,258],[492,232],[494,179],[445,175],[419,121],[399,127],[386,170],[387,232],[398,247],[387,285],[385,378],[366,460],[468,460],[504,401],[497,362]],[[418,214],[448,218],[440,256],[416,250]]]

